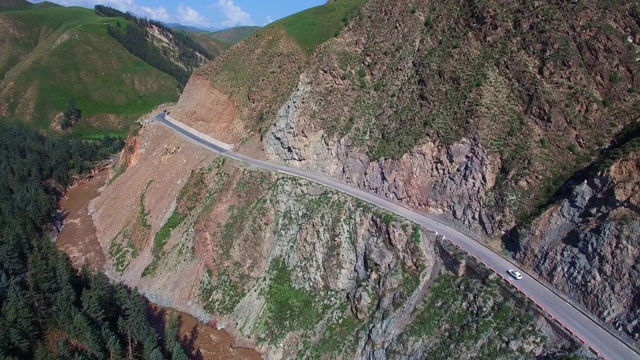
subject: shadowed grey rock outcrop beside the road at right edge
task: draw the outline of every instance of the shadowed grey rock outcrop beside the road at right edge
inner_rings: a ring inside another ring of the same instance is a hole
[[[516,258],[640,340],[638,155],[575,186],[523,231]]]

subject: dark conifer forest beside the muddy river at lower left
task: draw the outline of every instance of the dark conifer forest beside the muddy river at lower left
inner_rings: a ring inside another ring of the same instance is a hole
[[[187,359],[176,321],[161,337],[136,290],[78,273],[47,236],[56,189],[122,146],[0,124],[1,359]]]

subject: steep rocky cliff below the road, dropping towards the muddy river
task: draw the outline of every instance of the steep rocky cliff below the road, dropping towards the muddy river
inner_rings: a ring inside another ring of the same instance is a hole
[[[265,358],[530,358],[575,344],[410,222],[159,124],[136,143],[92,204],[108,273]]]

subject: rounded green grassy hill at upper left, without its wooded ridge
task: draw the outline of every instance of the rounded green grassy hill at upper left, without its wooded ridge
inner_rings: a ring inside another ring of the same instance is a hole
[[[178,97],[176,81],[129,54],[92,10],[45,7],[1,14],[15,30],[0,42],[0,101],[8,118],[50,128],[76,100],[83,120],[73,132],[124,131],[154,106]],[[116,117],[114,118],[113,115]]]

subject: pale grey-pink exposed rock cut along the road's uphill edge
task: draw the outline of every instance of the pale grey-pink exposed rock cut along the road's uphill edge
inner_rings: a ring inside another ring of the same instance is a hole
[[[418,210],[450,214],[493,233],[493,215],[485,204],[499,161],[476,138],[448,146],[427,142],[400,159],[370,161],[350,137],[336,139],[314,129],[303,112],[310,90],[303,75],[278,112],[265,137],[272,160],[327,174]]]

